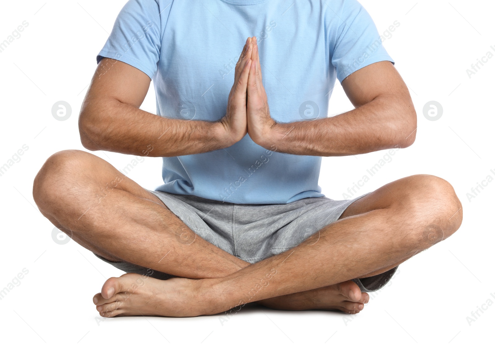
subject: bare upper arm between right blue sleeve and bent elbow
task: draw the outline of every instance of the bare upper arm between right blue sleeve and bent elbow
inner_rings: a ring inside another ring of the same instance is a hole
[[[383,97],[412,105],[407,86],[390,61],[379,61],[347,76],[342,87],[354,107]]]

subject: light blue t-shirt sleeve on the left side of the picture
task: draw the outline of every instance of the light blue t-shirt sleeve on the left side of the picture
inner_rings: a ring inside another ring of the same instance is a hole
[[[97,56],[97,63],[111,58],[134,66],[150,79],[160,57],[161,22],[155,0],[128,1],[115,20],[112,32]]]

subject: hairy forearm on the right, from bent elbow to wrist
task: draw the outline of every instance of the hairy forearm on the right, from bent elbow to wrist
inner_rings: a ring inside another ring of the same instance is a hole
[[[345,156],[399,146],[415,139],[416,113],[402,102],[377,98],[330,118],[277,123],[263,147],[296,155]]]

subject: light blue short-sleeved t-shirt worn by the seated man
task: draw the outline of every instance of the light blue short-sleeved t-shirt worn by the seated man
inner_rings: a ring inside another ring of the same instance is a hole
[[[270,114],[278,122],[327,117],[336,78],[394,62],[356,0],[130,0],[97,61],[113,58],[146,73],[158,115],[216,121],[225,115],[234,68],[250,36],[258,38]],[[246,135],[230,148],[164,157],[164,184],[156,190],[289,203],[324,196],[320,165],[319,156],[267,150]]]

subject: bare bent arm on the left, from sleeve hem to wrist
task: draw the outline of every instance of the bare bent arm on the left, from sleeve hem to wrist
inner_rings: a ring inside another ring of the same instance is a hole
[[[232,122],[225,117],[216,122],[187,121],[139,109],[150,82],[146,73],[131,65],[101,59],[79,116],[83,146],[141,156],[179,156],[227,148],[244,137],[231,130]]]

